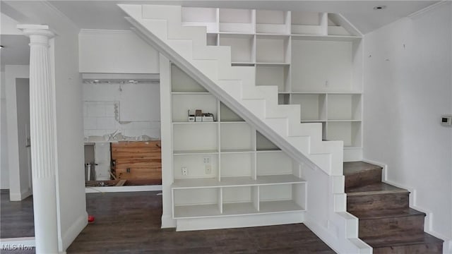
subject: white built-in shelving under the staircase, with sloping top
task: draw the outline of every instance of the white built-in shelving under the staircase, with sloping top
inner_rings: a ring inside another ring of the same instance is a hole
[[[174,219],[303,212],[298,165],[177,66],[171,72]],[[189,122],[189,109],[215,121]]]

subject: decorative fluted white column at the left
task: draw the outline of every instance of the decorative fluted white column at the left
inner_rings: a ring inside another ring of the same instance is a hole
[[[47,25],[18,25],[30,37],[30,137],[36,253],[58,253],[55,98]]]

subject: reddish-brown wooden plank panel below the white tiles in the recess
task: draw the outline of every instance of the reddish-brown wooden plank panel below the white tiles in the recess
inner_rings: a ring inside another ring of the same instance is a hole
[[[112,161],[117,179],[162,181],[160,140],[112,143]]]

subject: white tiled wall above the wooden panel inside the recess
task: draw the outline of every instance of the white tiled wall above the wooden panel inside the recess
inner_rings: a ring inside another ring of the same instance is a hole
[[[88,142],[160,139],[158,83],[83,83],[83,122]]]

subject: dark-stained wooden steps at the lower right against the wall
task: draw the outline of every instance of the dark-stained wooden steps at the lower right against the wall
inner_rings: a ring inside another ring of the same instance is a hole
[[[410,192],[381,182],[382,169],[345,162],[347,212],[359,219],[359,238],[379,253],[443,253],[443,241],[424,232],[426,214],[410,208]]]

